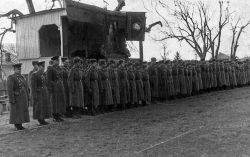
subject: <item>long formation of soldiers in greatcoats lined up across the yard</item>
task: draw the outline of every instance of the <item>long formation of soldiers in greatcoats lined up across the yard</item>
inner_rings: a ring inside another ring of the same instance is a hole
[[[250,84],[250,62],[244,61],[106,61],[75,57],[71,60],[51,58],[32,62],[34,69],[28,81],[21,75],[22,64],[15,64],[7,79],[10,101],[10,124],[25,129],[29,119],[40,125],[45,119],[80,118],[86,111],[92,115],[144,106],[157,101],[241,87]]]

